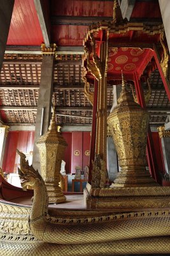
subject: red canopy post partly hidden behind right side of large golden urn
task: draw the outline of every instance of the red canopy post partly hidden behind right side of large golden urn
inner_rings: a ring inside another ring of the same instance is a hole
[[[136,89],[136,96],[140,106],[142,108],[146,108],[145,98],[143,95],[143,88],[141,86],[141,81],[138,79],[138,74],[136,72],[134,72],[134,85]],[[157,159],[155,157],[155,150],[153,147],[153,139],[152,139],[152,132],[150,131],[150,125],[148,127],[146,156],[148,159],[148,166],[150,169],[150,173],[152,174],[153,179],[155,179],[158,183],[160,183],[159,176],[158,176],[159,170],[157,168]]]

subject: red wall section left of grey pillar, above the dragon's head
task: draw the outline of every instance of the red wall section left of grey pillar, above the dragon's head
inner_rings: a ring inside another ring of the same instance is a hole
[[[4,152],[3,171],[17,172],[19,156],[16,150],[29,153],[34,147],[34,131],[10,131],[6,139]]]

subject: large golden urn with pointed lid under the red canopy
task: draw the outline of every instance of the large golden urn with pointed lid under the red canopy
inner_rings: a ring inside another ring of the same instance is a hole
[[[125,86],[122,74],[122,92],[118,105],[108,116],[113,141],[117,149],[121,171],[118,172],[114,187],[155,186],[146,171],[146,136],[149,114],[134,102]]]

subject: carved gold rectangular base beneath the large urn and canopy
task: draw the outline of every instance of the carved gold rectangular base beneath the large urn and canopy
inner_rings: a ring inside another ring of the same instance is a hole
[[[91,188],[84,189],[87,209],[111,209],[120,211],[143,211],[170,207],[169,187],[138,188]]]

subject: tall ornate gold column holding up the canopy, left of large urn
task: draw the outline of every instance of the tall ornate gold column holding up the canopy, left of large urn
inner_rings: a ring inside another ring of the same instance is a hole
[[[87,68],[98,80],[97,114],[96,114],[96,159],[92,170],[92,188],[104,188],[106,184],[106,138],[107,138],[107,59],[108,31],[104,30],[104,42],[101,44],[100,58],[96,55],[96,42],[92,40],[93,63],[89,61]]]

